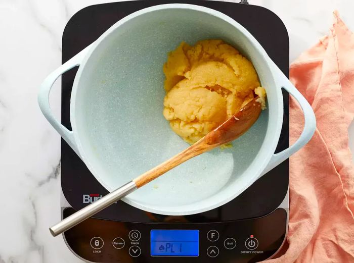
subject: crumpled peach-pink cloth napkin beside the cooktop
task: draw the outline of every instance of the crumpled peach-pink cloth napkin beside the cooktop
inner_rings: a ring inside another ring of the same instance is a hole
[[[290,80],[312,105],[317,130],[290,158],[288,248],[267,263],[354,262],[354,169],[348,126],[354,117],[354,36],[337,12],[328,36],[290,67]],[[290,143],[303,127],[290,100]]]

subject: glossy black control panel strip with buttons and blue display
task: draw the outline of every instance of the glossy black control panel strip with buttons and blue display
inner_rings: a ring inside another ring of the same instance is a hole
[[[74,212],[65,208],[63,217]],[[91,218],[64,237],[74,253],[93,262],[258,262],[281,247],[286,217],[278,208],[260,218],[207,224]]]

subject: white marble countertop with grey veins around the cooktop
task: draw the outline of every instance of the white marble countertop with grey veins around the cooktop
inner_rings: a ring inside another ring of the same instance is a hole
[[[102,0],[0,0],[0,263],[81,262],[48,227],[60,218],[60,137],[41,115],[37,88],[61,63],[68,19]],[[290,60],[329,31],[332,11],[354,30],[352,0],[250,0],[290,36]],[[51,97],[60,115],[60,81]]]

